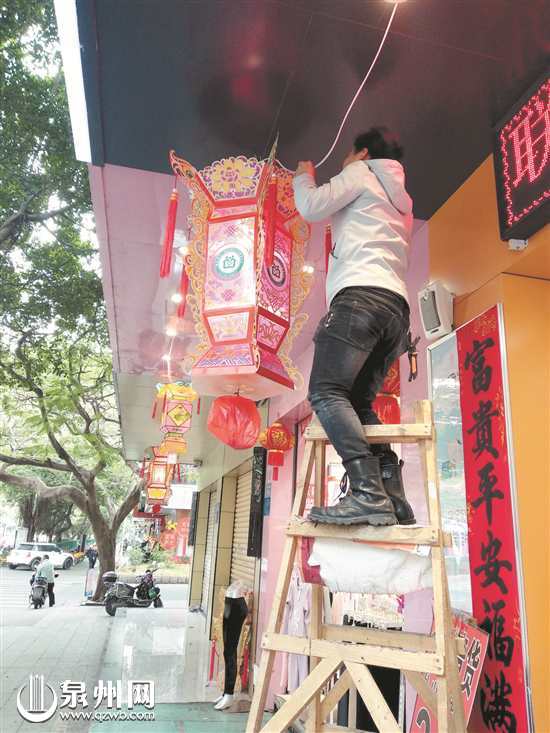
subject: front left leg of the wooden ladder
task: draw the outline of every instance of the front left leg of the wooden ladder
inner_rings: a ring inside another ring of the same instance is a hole
[[[306,445],[304,462],[302,464],[302,475],[300,476],[297,484],[296,495],[292,505],[293,515],[299,515],[304,511],[307,490],[311,481],[314,463],[315,452],[313,449],[313,443],[308,443]],[[275,586],[275,593],[273,595],[273,606],[271,608],[269,622],[267,624],[267,632],[269,633],[278,633],[281,629],[290,576],[292,575],[292,568],[296,557],[297,543],[297,537],[289,536],[286,538],[283,546],[277,585]],[[267,698],[269,683],[271,681],[274,662],[275,652],[271,649],[264,649],[260,660],[258,679],[254,680],[254,694],[252,696],[252,704],[250,706],[250,712],[248,714],[248,721],[246,724],[247,733],[258,733],[261,729],[265,701]]]

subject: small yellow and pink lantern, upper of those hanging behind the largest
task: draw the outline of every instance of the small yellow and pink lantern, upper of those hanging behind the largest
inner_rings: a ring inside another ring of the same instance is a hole
[[[158,388],[155,406],[160,400],[162,403],[160,429],[164,433],[159,446],[161,455],[183,455],[187,452],[187,443],[183,435],[191,428],[193,402],[196,399],[197,393],[186,384],[162,384]]]

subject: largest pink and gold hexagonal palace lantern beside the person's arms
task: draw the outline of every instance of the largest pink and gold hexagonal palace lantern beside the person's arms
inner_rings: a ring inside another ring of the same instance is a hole
[[[170,153],[190,188],[192,241],[187,296],[201,343],[191,376],[200,394],[258,400],[294,387],[289,358],[307,320],[302,272],[309,227],[294,208],[292,174],[272,156],[226,158],[201,171]]]

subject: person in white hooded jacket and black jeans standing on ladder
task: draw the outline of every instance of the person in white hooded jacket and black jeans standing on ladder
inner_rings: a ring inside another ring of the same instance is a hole
[[[329,183],[317,187],[311,161],[300,162],[294,176],[303,218],[332,220],[329,310],[314,335],[308,397],[350,484],[336,506],[312,508],[315,522],[415,522],[396,454],[387,444],[369,446],[363,431],[380,422],[372,403],[409,333],[405,275],[413,214],[402,155],[395,135],[373,127],[358,135]]]

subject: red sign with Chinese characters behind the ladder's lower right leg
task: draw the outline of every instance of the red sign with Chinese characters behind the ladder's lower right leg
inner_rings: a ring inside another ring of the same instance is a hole
[[[476,626],[467,624],[461,616],[453,616],[453,626],[456,634],[465,640],[466,646],[466,654],[463,657],[458,656],[457,661],[458,678],[462,690],[462,704],[464,706],[464,720],[468,725],[481,670],[483,669],[483,662],[487,654],[487,634]],[[437,690],[437,676],[434,674],[424,676],[432,690]],[[477,728],[475,730],[477,731]],[[436,715],[424,703],[420,695],[417,695],[409,733],[437,733],[437,731]]]

